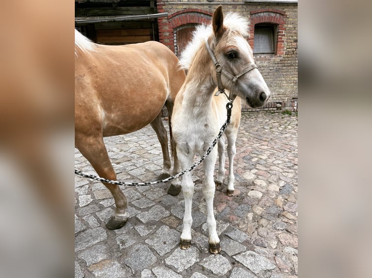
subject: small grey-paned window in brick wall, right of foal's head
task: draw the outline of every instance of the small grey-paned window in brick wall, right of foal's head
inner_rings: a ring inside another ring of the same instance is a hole
[[[254,54],[275,53],[276,25],[254,25]]]

